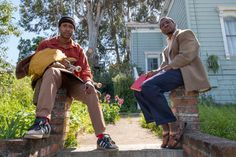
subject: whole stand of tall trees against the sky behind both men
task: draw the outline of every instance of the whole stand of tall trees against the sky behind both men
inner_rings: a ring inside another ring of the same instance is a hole
[[[21,0],[20,25],[26,31],[39,33],[50,30],[55,34],[59,18],[71,15],[77,22],[76,39],[88,47],[90,61],[105,54],[98,54],[98,47],[99,50],[115,52],[116,61],[120,62],[120,50],[125,46],[122,40],[125,22],[135,19],[133,17],[140,12],[137,8],[147,5],[150,15],[150,12],[159,8],[161,2],[162,0]],[[114,46],[107,47],[111,45]]]

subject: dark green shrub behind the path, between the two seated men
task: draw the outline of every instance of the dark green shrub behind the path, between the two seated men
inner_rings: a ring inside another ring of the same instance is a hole
[[[131,75],[118,74],[112,79],[114,84],[115,95],[119,95],[125,100],[121,106],[121,112],[136,112],[136,104],[133,91],[130,90],[130,86],[133,83]]]

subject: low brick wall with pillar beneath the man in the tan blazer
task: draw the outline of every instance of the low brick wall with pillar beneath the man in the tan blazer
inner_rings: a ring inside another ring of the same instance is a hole
[[[170,93],[172,110],[177,120],[187,122],[183,138],[184,157],[236,157],[236,141],[199,131],[198,93],[185,93],[183,87]]]

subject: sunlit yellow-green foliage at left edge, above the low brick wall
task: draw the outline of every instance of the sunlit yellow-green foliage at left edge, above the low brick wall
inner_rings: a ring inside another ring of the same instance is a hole
[[[19,81],[9,74],[1,75],[1,81],[0,139],[20,138],[35,117],[30,81],[27,78]]]

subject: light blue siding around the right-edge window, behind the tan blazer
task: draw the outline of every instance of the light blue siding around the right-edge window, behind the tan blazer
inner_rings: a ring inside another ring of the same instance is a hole
[[[236,58],[226,59],[218,6],[236,6],[236,0],[187,0],[190,28],[201,43],[201,57],[206,64],[207,55],[219,57],[217,74],[207,70],[213,88],[211,95],[219,103],[236,102]]]

